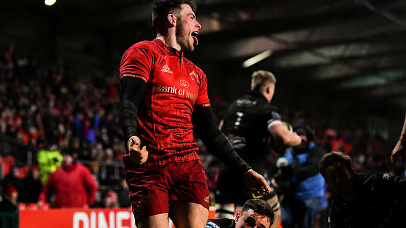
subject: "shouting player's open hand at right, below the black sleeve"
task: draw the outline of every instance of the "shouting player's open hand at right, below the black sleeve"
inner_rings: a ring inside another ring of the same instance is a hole
[[[255,196],[264,195],[271,191],[271,187],[269,187],[264,176],[252,169],[248,170],[244,174],[243,180],[245,185],[247,185],[247,187],[252,191],[252,193],[254,193]]]

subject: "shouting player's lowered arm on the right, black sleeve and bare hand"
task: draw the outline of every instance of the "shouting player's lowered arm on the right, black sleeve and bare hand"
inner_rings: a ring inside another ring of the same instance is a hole
[[[271,190],[264,177],[253,171],[251,167],[235,153],[230,142],[217,128],[210,107],[195,110],[193,113],[193,122],[202,142],[211,151],[213,156],[238,174],[243,175],[245,184],[255,195],[261,195]]]

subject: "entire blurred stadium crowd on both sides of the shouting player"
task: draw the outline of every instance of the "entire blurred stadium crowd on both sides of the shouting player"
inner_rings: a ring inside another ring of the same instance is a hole
[[[85,164],[97,180],[99,190],[93,207],[130,207],[121,162],[124,144],[118,123],[119,89],[116,76],[97,72],[79,79],[69,68],[44,65],[35,55],[16,53],[10,47],[0,59],[0,135],[36,150],[72,150],[73,158]],[[217,121],[230,102],[220,95],[211,97]],[[389,157],[395,141],[370,135],[363,128],[331,128],[327,120],[309,119],[309,124],[315,129],[315,143],[325,151],[349,155],[355,171],[391,171]],[[199,139],[198,145],[214,205],[220,163]],[[39,181],[38,162],[21,168],[12,156],[2,154],[1,158],[3,195],[18,192],[18,201],[36,203],[44,184]],[[268,158],[270,175],[275,172],[275,157],[270,153]],[[404,177],[403,169],[395,172]],[[32,183],[30,190],[28,182]]]

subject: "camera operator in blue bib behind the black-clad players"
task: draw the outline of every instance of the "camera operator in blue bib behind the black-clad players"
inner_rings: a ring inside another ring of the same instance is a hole
[[[303,119],[294,123],[293,130],[303,141],[278,159],[274,184],[283,195],[283,228],[311,228],[324,200],[325,183],[318,166],[325,151],[313,142],[314,133]]]

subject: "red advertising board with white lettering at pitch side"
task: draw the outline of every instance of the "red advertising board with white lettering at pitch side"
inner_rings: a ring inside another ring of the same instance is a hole
[[[210,210],[209,218],[214,218]],[[129,209],[51,209],[20,211],[19,228],[136,228]],[[173,227],[170,221],[170,227]]]

